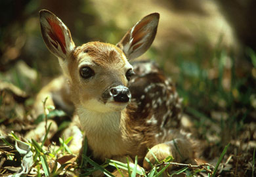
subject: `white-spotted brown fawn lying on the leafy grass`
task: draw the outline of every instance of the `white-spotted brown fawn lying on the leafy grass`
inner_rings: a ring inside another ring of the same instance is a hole
[[[181,99],[175,86],[152,62],[130,64],[154,41],[160,14],[142,18],[117,45],[89,42],[79,47],[52,12],[41,10],[39,18],[93,157],[103,161],[138,155],[146,169],[145,157],[155,163],[152,153],[159,161],[171,155],[175,162],[194,163],[194,144],[179,129]]]

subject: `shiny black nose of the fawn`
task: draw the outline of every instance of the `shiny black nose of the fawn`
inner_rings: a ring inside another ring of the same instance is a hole
[[[115,102],[129,102],[131,98],[131,93],[129,88],[118,85],[116,87],[110,88],[110,95],[113,96]]]

